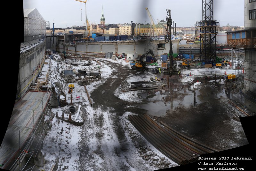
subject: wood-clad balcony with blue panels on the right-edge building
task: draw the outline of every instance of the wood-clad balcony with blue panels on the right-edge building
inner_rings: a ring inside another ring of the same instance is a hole
[[[256,48],[256,28],[226,32],[230,48]]]

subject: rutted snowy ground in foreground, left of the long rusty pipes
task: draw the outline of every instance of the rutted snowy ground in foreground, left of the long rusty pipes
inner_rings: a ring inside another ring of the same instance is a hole
[[[137,131],[124,116],[117,116],[111,113],[111,108],[102,111],[100,108],[94,109],[85,106],[86,121],[83,125],[83,130],[80,132],[80,146],[84,151],[84,146],[87,146],[86,152],[81,153],[79,158],[79,170],[156,170],[159,169],[159,164],[168,167],[172,161],[166,159],[163,154],[147,143],[143,148],[147,152],[142,155],[141,150],[134,146],[134,142],[129,138],[126,123],[130,124],[133,131]],[[102,120],[100,120],[100,118]],[[117,123],[115,122],[115,120]],[[125,137],[120,139],[116,134],[116,127],[120,123],[124,129]],[[129,131],[129,130],[128,130]],[[141,137],[143,141],[147,142]],[[144,142],[144,144],[145,144]],[[145,151],[145,150],[144,150]],[[159,154],[160,153],[160,154]],[[146,159],[146,155],[151,156],[150,160]],[[153,158],[154,157],[154,158]],[[86,161],[86,162],[84,162]],[[162,163],[160,163],[162,162]],[[176,164],[170,165],[174,166]]]

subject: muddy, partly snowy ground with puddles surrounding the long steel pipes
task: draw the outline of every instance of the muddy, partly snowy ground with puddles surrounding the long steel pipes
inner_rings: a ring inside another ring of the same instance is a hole
[[[73,101],[76,110],[82,105],[80,115],[84,122],[79,130],[76,170],[146,171],[177,166],[143,138],[128,120],[130,114],[149,114],[158,122],[219,150],[248,144],[241,123],[232,118],[237,110],[228,104],[223,83],[220,87],[201,79],[195,85],[180,83],[180,78],[172,75],[168,88],[166,75],[152,74],[152,70],[134,71],[108,60],[99,61],[113,70],[109,77],[100,78],[99,83],[95,80],[77,84],[75,89],[80,94],[84,93],[83,84],[93,84],[95,88],[90,92],[93,107],[86,96]],[[158,89],[131,92],[127,81],[131,77],[137,81],[150,77],[164,79],[156,83]],[[130,98],[120,99],[118,94],[130,95]],[[60,110],[64,109],[68,107]]]

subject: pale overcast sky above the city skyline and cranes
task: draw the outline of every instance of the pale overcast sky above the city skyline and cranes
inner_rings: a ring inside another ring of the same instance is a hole
[[[244,0],[214,0],[213,4],[214,19],[220,21],[220,26],[244,26]],[[106,24],[150,23],[146,7],[155,24],[157,19],[166,21],[167,8],[178,27],[194,26],[196,21],[202,20],[202,0],[87,0],[90,23],[100,24],[102,5]],[[24,0],[23,8],[36,8],[46,21],[50,21],[51,28],[52,19],[54,27],[59,28],[85,23],[85,5],[75,0]]]

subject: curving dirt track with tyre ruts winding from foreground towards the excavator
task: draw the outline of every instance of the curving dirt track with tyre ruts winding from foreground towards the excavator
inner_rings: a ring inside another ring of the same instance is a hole
[[[137,71],[109,61],[100,62],[107,64],[115,71],[90,95],[94,104],[93,108],[87,107],[87,109],[91,108],[93,115],[89,114],[83,125],[83,130],[87,133],[82,133],[84,141],[80,142],[83,152],[80,153],[79,168],[106,171],[150,170],[133,143],[126,138],[123,125],[120,123],[126,111],[143,114],[147,113],[147,110],[127,107],[134,106],[136,103],[120,100],[114,95],[116,88],[129,76],[128,73],[135,74]],[[89,135],[86,137],[86,134]]]

